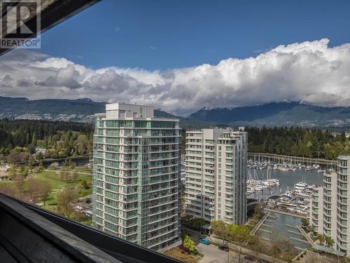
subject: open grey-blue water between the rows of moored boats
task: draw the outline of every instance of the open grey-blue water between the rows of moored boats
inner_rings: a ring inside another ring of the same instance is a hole
[[[323,173],[317,173],[317,170],[304,170],[297,169],[295,171],[283,171],[277,169],[247,169],[247,177],[250,179],[258,178],[258,180],[266,180],[267,173],[269,178],[280,180],[280,185],[276,187],[271,187],[269,189],[264,189],[263,191],[255,191],[253,194],[247,195],[250,198],[266,198],[274,194],[282,194],[288,189],[293,190],[295,184],[298,182],[306,182],[309,185],[312,184],[323,184]]]

